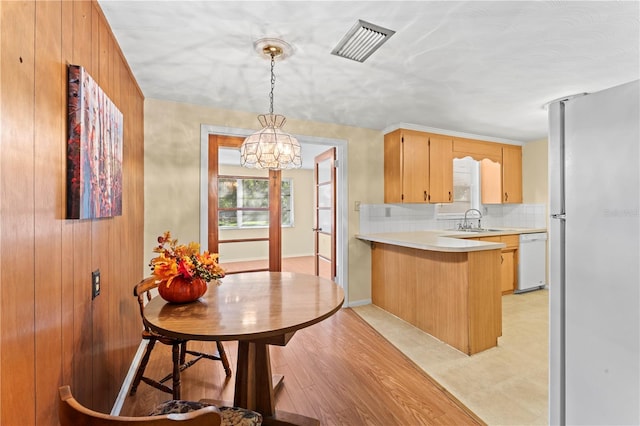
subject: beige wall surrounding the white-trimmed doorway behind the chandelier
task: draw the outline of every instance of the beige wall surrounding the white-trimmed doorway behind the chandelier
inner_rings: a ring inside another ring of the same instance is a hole
[[[171,230],[183,242],[198,241],[200,223],[201,124],[257,129],[256,115],[199,105],[145,100],[145,254],[158,235]],[[335,124],[287,120],[296,135],[342,139],[348,143],[348,299],[371,298],[369,246],[354,238],[359,229],[355,201],[383,200],[383,135]],[[284,252],[285,249],[283,249]],[[145,263],[145,271],[147,271]]]

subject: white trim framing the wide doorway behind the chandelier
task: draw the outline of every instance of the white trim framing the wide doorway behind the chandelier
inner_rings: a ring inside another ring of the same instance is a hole
[[[209,168],[209,135],[226,135],[247,137],[255,130],[236,127],[200,125],[200,244],[205,247],[208,238],[208,168]],[[323,145],[336,148],[336,176],[339,184],[336,186],[336,281],[344,290],[344,306],[349,306],[349,250],[348,224],[349,211],[347,209],[347,141],[344,139],[323,138],[317,136],[294,134],[301,145]]]

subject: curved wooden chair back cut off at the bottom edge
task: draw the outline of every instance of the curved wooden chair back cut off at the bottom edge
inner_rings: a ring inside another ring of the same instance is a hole
[[[222,415],[214,406],[203,406],[195,411],[157,416],[112,416],[93,411],[80,404],[71,394],[69,386],[58,388],[60,402],[58,419],[60,426],[221,426]]]

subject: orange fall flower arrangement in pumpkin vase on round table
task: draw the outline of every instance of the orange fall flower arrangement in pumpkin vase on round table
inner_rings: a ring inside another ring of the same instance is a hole
[[[169,302],[192,302],[207,291],[207,282],[219,284],[225,276],[218,254],[200,253],[200,244],[195,242],[178,244],[169,231],[158,237],[153,252],[158,256],[149,263],[151,273],[160,281],[160,296]]]

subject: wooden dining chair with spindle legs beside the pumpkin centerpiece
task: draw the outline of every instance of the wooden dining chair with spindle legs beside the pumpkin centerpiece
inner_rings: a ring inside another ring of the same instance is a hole
[[[218,350],[218,353],[216,354],[193,351],[187,348],[187,340],[175,339],[173,337],[158,334],[146,325],[146,323],[144,322],[144,306],[146,302],[151,300],[151,290],[155,289],[156,287],[158,287],[157,279],[155,277],[148,277],[140,281],[133,288],[133,295],[138,298],[140,316],[143,319],[142,324],[144,328],[142,330],[142,339],[147,340],[148,343],[142,360],[140,361],[140,365],[138,366],[138,370],[136,371],[133,383],[131,384],[131,391],[129,392],[129,395],[135,395],[138,389],[138,385],[142,381],[150,386],[153,386],[156,389],[172,394],[173,399],[180,399],[180,373],[203,358],[222,362],[222,366],[224,367],[226,376],[231,377],[229,360],[227,358],[226,352],[224,351],[224,346],[222,346],[221,342],[216,342]],[[152,379],[144,375],[147,364],[149,363],[151,351],[153,351],[153,348],[155,347],[157,342],[171,346],[172,349],[171,353],[173,370],[171,371],[171,373],[167,374],[160,380]],[[187,355],[190,355],[189,360],[187,360]],[[169,379],[172,379],[171,387],[165,385],[165,382],[167,382]]]

